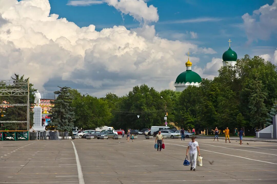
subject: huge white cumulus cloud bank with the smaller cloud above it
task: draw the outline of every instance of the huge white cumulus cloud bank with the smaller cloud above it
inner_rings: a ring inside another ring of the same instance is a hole
[[[156,14],[146,16],[155,7],[137,1],[141,8],[135,10],[130,2],[109,1],[138,20],[158,20]],[[162,39],[155,35],[154,26],[134,30],[114,26],[101,31],[94,25],[78,27],[50,15],[48,0],[0,0],[0,78],[25,74],[42,91],[66,85],[101,97],[108,92],[124,95],[143,83],[167,89],[185,70],[188,50],[195,55],[213,52],[189,42]],[[194,63],[199,60],[191,58]]]

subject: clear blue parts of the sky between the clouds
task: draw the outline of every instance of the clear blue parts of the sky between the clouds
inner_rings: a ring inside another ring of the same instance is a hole
[[[124,25],[128,29],[137,28],[140,22],[130,15],[122,15],[114,7],[106,3],[91,6],[68,6],[68,0],[50,0],[51,14],[65,17],[78,26],[96,25],[96,30],[110,28],[114,25]],[[268,40],[258,40],[247,44],[247,36],[242,28],[242,15],[259,9],[265,4],[271,5],[273,0],[233,0],[233,1],[206,1],[206,0],[150,0],[148,6],[158,9],[159,20],[155,25],[156,33],[161,38],[170,40],[190,41],[203,47],[211,47],[217,53],[209,56],[198,55],[199,58],[210,61],[212,57],[221,58],[228,49],[227,42],[232,40],[231,47],[238,54],[238,58],[245,54],[262,55],[273,53],[276,50],[276,34]],[[123,18],[122,18],[123,17]],[[210,21],[197,22],[199,19]],[[195,19],[195,20],[194,20]],[[180,23],[187,20],[191,22]],[[194,20],[194,21],[193,21]],[[174,23],[177,22],[177,23]],[[197,38],[191,39],[186,32],[196,32]],[[204,58],[203,58],[204,57]],[[198,64],[206,65],[205,62]]]

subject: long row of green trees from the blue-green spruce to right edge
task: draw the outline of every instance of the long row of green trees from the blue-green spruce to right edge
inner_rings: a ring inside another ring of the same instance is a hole
[[[167,122],[192,129],[244,127],[249,135],[272,123],[277,112],[277,68],[263,58],[245,55],[237,64],[223,66],[213,80],[203,79],[200,87],[182,92],[162,90],[143,84],[119,97],[81,95],[76,89],[60,87],[51,110],[50,125],[61,131],[72,127],[95,129],[142,129]],[[161,98],[162,97],[162,98]],[[166,107],[166,108],[165,108]],[[139,118],[138,118],[139,116]]]

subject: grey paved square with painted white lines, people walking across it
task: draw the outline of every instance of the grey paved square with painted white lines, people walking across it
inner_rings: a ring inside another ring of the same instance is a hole
[[[0,183],[277,183],[277,143],[197,138],[203,166],[183,166],[190,139],[0,142]],[[76,147],[75,154],[74,146]],[[209,161],[214,161],[211,165]],[[83,176],[83,177],[82,177]]]

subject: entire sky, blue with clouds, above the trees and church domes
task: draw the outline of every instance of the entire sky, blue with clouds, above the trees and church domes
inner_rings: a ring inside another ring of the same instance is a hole
[[[0,78],[104,97],[217,76],[229,48],[277,64],[277,0],[0,0]]]

